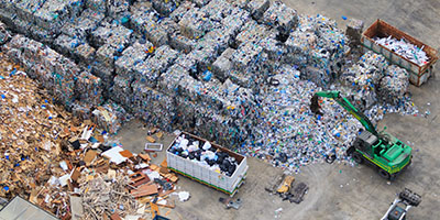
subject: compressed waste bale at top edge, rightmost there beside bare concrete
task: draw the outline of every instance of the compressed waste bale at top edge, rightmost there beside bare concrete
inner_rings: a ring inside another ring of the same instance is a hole
[[[264,12],[263,21],[265,24],[276,29],[280,34],[286,35],[297,25],[298,14],[294,9],[276,0]]]

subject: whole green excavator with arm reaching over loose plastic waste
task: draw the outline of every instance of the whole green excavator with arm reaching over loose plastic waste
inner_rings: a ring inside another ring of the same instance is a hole
[[[365,128],[358,135],[353,145],[346,150],[358,164],[370,162],[378,169],[378,174],[387,179],[394,179],[398,173],[411,163],[413,148],[395,136],[384,131],[377,132],[373,123],[359,111],[340,91],[318,91],[311,98],[310,110],[322,116],[319,97],[331,98],[356,118]]]

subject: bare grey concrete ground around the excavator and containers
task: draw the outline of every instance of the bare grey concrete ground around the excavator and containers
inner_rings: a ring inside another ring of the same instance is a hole
[[[289,7],[299,13],[317,14],[337,19],[340,28],[344,28],[341,15],[365,21],[369,26],[376,19],[384,19],[392,25],[407,32],[422,42],[439,48],[440,45],[440,1],[438,0],[286,0]],[[439,66],[439,65],[438,65]],[[436,73],[439,73],[437,67]],[[429,82],[420,88],[410,87],[415,103],[425,112],[431,112],[427,118],[388,114],[380,124],[398,139],[410,142],[414,147],[411,166],[398,178],[389,183],[382,179],[376,170],[366,165],[351,167],[344,164],[314,164],[295,175],[296,183],[305,182],[309,191],[305,201],[299,205],[282,201],[272,196],[264,187],[282,169],[272,167],[262,161],[249,158],[249,173],[245,185],[234,198],[241,198],[240,210],[229,209],[218,201],[227,195],[179,176],[179,190],[187,190],[191,198],[186,202],[177,202],[176,208],[167,216],[170,219],[380,219],[394,200],[395,195],[405,187],[422,197],[419,207],[413,208],[408,219],[439,219],[440,209],[440,82],[431,77]],[[118,134],[124,148],[135,153],[143,150],[146,129],[139,122],[131,122]],[[166,135],[161,142],[166,146],[173,140]],[[154,161],[162,162],[162,152]],[[275,210],[283,208],[276,216]],[[164,210],[166,211],[166,210]]]

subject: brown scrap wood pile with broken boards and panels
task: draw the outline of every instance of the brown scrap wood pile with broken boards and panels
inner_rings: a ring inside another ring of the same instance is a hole
[[[0,197],[21,196],[62,219],[174,208],[167,198],[177,176],[166,163],[150,164],[148,154],[132,154],[90,120],[76,120],[2,55],[0,97]],[[74,198],[82,206],[73,209]]]

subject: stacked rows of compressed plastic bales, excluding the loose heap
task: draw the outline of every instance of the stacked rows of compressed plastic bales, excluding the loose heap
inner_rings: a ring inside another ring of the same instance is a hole
[[[108,105],[120,105],[120,112],[167,131],[193,130],[227,145],[240,144],[260,123],[258,97],[270,77],[299,70],[296,77],[328,87],[342,74],[350,52],[333,20],[299,15],[280,1],[0,4],[7,30],[26,36],[14,37],[3,50],[30,62],[35,78],[81,118],[92,118],[98,106],[111,100]],[[34,52],[44,56],[33,57]],[[53,53],[57,58],[50,58]],[[41,64],[47,59],[57,64]],[[396,78],[389,74],[378,86]],[[389,90],[377,94],[391,100]]]

